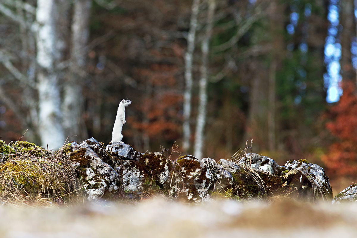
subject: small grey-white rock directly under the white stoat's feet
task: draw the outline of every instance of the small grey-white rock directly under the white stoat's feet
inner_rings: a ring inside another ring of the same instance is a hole
[[[139,161],[140,158],[142,158],[141,153],[137,152],[134,147],[122,142],[109,142],[105,151],[114,159],[114,161]]]

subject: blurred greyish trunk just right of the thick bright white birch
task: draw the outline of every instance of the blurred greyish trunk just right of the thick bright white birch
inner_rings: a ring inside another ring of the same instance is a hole
[[[63,127],[66,136],[78,136],[73,140],[81,141],[87,138],[83,112],[82,79],[85,76],[86,52],[85,46],[89,39],[89,16],[92,0],[75,0],[73,22],[71,26],[71,66],[69,77],[64,85],[64,100],[62,103]]]

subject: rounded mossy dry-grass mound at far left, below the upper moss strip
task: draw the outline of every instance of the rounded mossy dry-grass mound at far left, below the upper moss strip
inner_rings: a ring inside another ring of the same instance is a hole
[[[2,198],[69,199],[78,181],[70,166],[47,159],[11,159],[0,166]]]

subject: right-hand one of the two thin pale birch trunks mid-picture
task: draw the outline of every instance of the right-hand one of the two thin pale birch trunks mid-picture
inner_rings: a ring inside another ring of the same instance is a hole
[[[206,32],[201,43],[202,65],[201,65],[200,92],[199,92],[200,101],[198,104],[198,115],[197,115],[197,122],[196,122],[195,151],[193,153],[193,155],[198,159],[202,159],[202,149],[203,149],[203,142],[204,142],[203,132],[206,125],[208,52],[209,52],[209,44],[212,36],[215,8],[216,8],[215,0],[208,0]]]

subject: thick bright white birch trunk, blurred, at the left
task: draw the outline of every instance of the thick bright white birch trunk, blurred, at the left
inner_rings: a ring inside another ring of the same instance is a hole
[[[37,75],[39,93],[39,128],[42,146],[58,149],[65,142],[61,125],[60,90],[54,72],[54,61],[59,58],[60,47],[56,34],[56,18],[60,17],[54,0],[37,0]]]

